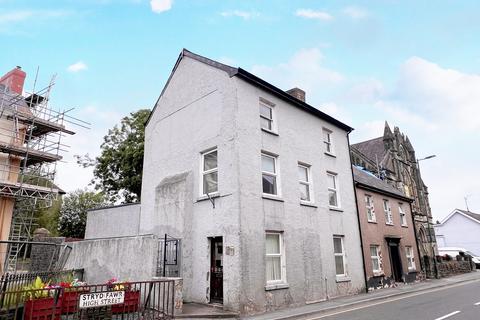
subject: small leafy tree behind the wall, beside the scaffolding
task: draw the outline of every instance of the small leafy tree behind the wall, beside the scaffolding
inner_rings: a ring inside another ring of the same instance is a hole
[[[87,211],[106,205],[103,193],[76,190],[63,197],[58,231],[64,237],[83,238]]]

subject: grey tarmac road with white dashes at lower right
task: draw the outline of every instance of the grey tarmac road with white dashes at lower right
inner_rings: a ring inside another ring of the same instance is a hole
[[[305,320],[480,320],[480,281],[367,303]]]

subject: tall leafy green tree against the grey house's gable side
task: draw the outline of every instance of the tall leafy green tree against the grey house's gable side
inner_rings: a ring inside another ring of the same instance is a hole
[[[77,157],[83,167],[94,167],[92,181],[111,202],[140,201],[143,171],[145,123],[150,110],[141,109],[124,117],[103,138],[101,153],[96,159],[88,154]]]

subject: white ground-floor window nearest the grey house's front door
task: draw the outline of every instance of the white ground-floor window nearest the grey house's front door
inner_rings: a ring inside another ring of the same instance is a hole
[[[265,276],[267,285],[285,283],[285,252],[281,232],[267,232],[265,235]]]

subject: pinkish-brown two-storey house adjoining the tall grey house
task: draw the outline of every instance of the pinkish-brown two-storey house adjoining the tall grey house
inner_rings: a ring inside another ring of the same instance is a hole
[[[359,167],[353,167],[353,175],[367,288],[415,281],[419,255],[410,210],[412,199]]]

